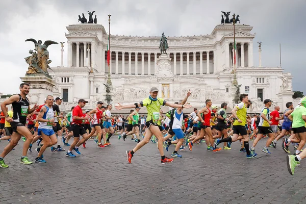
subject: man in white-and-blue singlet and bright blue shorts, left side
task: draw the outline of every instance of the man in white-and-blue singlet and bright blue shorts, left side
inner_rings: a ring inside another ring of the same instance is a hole
[[[52,95],[47,95],[46,105],[44,105],[37,116],[37,121],[40,122],[38,126],[38,136],[42,136],[43,145],[39,148],[36,148],[38,156],[35,158],[35,162],[46,163],[43,159],[43,152],[47,147],[55,145],[57,143],[57,138],[53,130],[53,126],[57,124],[54,122],[54,109],[52,107],[54,98]]]

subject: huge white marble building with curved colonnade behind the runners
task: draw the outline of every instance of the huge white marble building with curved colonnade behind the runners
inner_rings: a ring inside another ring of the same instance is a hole
[[[233,104],[233,24],[219,24],[210,35],[167,37],[171,72],[164,75],[157,74],[161,37],[111,35],[108,67],[108,34],[103,25],[72,24],[66,28],[68,66],[62,62],[52,67],[55,73],[50,72],[57,83],[54,95],[64,97],[62,110],[69,110],[79,98],[90,101],[87,108],[94,108],[97,100],[105,100],[103,83],[107,82],[109,68],[113,104],[140,101],[148,96],[151,86],[157,86],[159,96],[170,102],[182,99],[191,90],[188,101],[195,107],[201,107],[208,98],[217,106],[224,101]],[[265,98],[285,109],[287,101],[293,101],[293,77],[282,67],[253,66],[252,28],[244,24],[235,27],[240,92],[248,93],[255,101],[253,112],[263,107]]]

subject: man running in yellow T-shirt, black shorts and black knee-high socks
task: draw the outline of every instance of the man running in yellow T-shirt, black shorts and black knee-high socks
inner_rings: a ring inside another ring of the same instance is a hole
[[[255,152],[251,152],[249,150],[249,136],[247,135],[245,129],[247,108],[250,107],[251,101],[248,99],[248,94],[244,93],[239,96],[239,99],[241,103],[237,104],[237,106],[235,106],[235,108],[231,111],[232,115],[236,118],[235,122],[233,123],[233,136],[224,138],[222,140],[217,140],[215,146],[222,142],[235,142],[238,140],[238,136],[240,134],[244,139],[243,144],[246,150],[246,158],[251,159],[257,157]]]

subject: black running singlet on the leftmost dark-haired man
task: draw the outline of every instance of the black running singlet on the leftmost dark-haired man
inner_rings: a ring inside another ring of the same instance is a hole
[[[25,124],[27,122],[27,116],[28,116],[28,110],[30,106],[30,102],[27,97],[24,99],[19,95],[18,102],[14,102],[12,104],[13,106],[13,120],[14,122],[20,122],[22,124]]]

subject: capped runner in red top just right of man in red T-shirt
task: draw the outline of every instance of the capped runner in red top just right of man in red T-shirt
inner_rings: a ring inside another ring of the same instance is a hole
[[[106,131],[103,126],[103,120],[104,120],[104,115],[103,112],[105,111],[106,107],[103,106],[102,101],[98,101],[97,107],[95,109],[92,109],[89,112],[89,115],[93,114],[93,119],[92,119],[92,129],[89,134],[89,138],[93,136],[93,134],[97,131],[98,132],[98,147],[99,148],[104,148],[106,143]],[[104,143],[101,144],[101,137],[103,136]],[[84,145],[83,145],[84,146]]]

